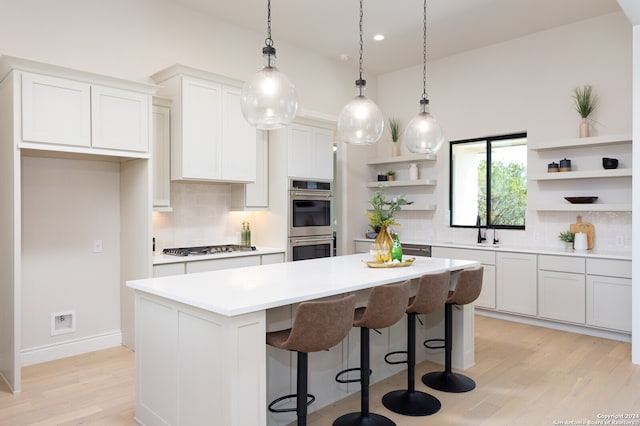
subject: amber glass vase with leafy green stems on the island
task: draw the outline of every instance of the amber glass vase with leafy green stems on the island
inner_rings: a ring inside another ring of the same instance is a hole
[[[376,262],[389,262],[391,260],[391,248],[393,247],[389,226],[399,226],[394,221],[393,216],[400,211],[403,205],[407,204],[406,196],[400,194],[391,201],[387,201],[382,190],[378,190],[369,199],[369,204],[372,207],[372,210],[367,212],[369,226],[378,233],[373,242],[373,256]]]

